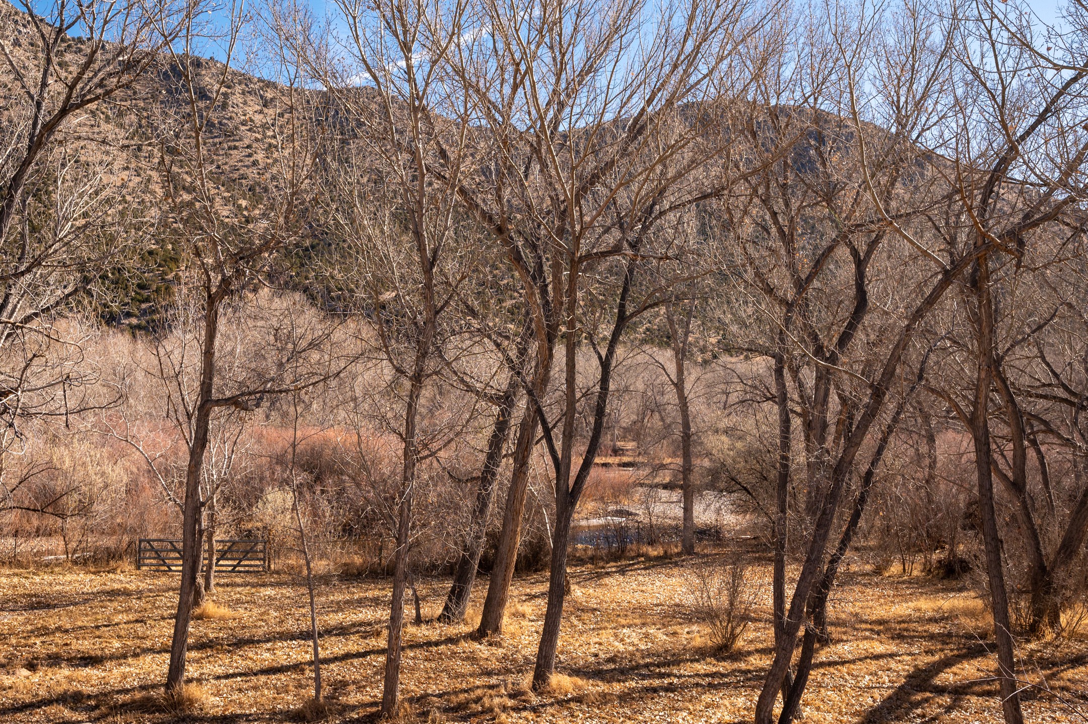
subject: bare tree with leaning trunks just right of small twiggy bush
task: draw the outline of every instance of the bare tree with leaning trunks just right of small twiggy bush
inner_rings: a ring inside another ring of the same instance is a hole
[[[855,459],[874,426],[893,429],[880,420],[918,324],[977,258],[950,242],[938,257],[928,246],[935,237],[919,221],[940,188],[920,183],[942,171],[922,144],[945,118],[927,99],[949,83],[949,28],[916,9],[891,16],[829,3],[823,17],[798,33],[805,60],[790,57],[777,77],[768,74],[757,118],[746,124],[755,158],[766,149],[789,150],[779,151],[780,160],[728,211],[730,230],[745,236],[740,268],[769,322],[764,348],[772,358],[770,398],[778,412],[776,651],[756,703],[759,724],[771,721],[779,691],[786,700],[780,721],[796,713],[811,666],[809,648],[796,677],[790,676],[796,637],[824,605],[819,581],[833,579],[825,575],[831,573],[826,547]],[[927,161],[936,168],[924,172]],[[765,245],[775,248],[772,256],[761,251]],[[903,268],[914,255],[925,271],[881,291],[885,304],[875,309],[870,298],[883,289],[881,269]],[[795,437],[803,442],[800,453]],[[796,512],[790,504],[795,467],[805,490]],[[787,604],[791,529],[803,535],[804,557]]]

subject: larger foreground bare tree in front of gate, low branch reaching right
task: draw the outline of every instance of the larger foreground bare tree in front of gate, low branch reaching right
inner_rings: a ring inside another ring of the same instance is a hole
[[[196,359],[191,377],[171,400],[172,417],[184,433],[186,447],[182,527],[182,580],[171,645],[168,692],[185,678],[191,602],[197,590],[201,560],[200,521],[203,501],[200,483],[213,419],[230,410],[252,409],[265,397],[294,392],[316,384],[337,371],[327,349],[330,329],[318,324],[301,330],[299,336],[272,336],[274,343],[246,359],[233,379],[218,369],[221,319],[232,304],[245,310],[251,285],[267,279],[284,249],[302,237],[313,189],[318,128],[307,116],[308,95],[297,84],[292,68],[282,69],[285,83],[274,100],[268,124],[276,140],[265,159],[263,174],[255,183],[259,208],[238,203],[243,188],[232,185],[217,171],[222,159],[217,149],[223,143],[222,126],[215,123],[225,112],[225,85],[236,73],[232,65],[240,52],[239,40],[248,17],[240,4],[232,4],[225,30],[214,34],[222,44],[224,61],[205,61],[197,51],[209,41],[207,26],[190,21],[177,44],[164,58],[172,85],[164,94],[154,118],[161,145],[161,176],[170,205],[170,228],[174,243],[184,251],[185,273],[195,297],[199,332],[195,339]],[[243,210],[246,208],[246,210]],[[290,315],[288,307],[280,315]],[[277,326],[276,314],[267,320]],[[285,359],[304,358],[307,364],[284,367]],[[322,365],[322,361],[325,364]],[[295,378],[292,370],[300,370]]]

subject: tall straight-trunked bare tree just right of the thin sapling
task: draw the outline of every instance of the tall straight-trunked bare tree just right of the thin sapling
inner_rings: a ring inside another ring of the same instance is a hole
[[[395,512],[393,596],[381,711],[397,711],[404,601],[409,586],[412,506],[421,463],[457,438],[459,427],[428,419],[436,380],[456,366],[444,327],[470,262],[471,237],[455,213],[467,130],[452,123],[466,101],[449,93],[445,56],[461,32],[459,2],[391,0],[338,3],[345,48],[314,39],[312,71],[341,109],[346,148],[332,184],[334,228],[350,261],[337,285],[373,320],[387,369],[382,417],[401,445]],[[347,66],[337,61],[347,57]],[[442,172],[436,171],[441,168]],[[450,181],[453,177],[453,182]]]

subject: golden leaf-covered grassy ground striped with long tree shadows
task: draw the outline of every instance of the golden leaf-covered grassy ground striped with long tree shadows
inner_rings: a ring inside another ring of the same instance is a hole
[[[546,578],[519,577],[500,639],[471,626],[406,630],[403,695],[421,722],[747,722],[769,661],[767,611],[728,656],[708,652],[678,559],[573,567],[556,691],[527,690]],[[754,577],[766,577],[761,568]],[[486,581],[477,586],[479,619]],[[961,587],[922,577],[848,573],[832,604],[834,642],[817,652],[804,719],[817,722],[1000,721],[988,680],[985,612]],[[154,697],[165,675],[176,576],[78,568],[0,570],[0,722],[166,722]],[[445,581],[423,585],[437,613]],[[764,591],[767,592],[766,590]],[[322,674],[332,721],[372,719],[381,696],[388,581],[320,582]],[[767,598],[767,596],[764,596]],[[196,621],[189,678],[202,689],[193,722],[281,722],[311,692],[302,581],[286,574],[221,576],[230,618]],[[1022,642],[1030,722],[1084,722],[1088,641]],[[1065,703],[1063,703],[1063,700]]]

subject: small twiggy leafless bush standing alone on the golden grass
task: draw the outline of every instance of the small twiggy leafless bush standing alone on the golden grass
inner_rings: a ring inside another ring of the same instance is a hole
[[[694,613],[706,629],[716,653],[730,653],[752,622],[761,594],[740,552],[720,559],[701,557],[688,566],[688,586]]]

